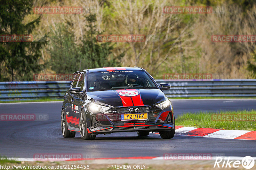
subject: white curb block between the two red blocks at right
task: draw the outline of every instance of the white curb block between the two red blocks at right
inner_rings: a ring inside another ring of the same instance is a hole
[[[240,131],[240,130],[220,130],[213,133],[210,133],[208,135],[205,135],[203,137],[208,138],[222,138],[222,139],[234,139],[237,138],[245,133],[248,133],[250,131]]]

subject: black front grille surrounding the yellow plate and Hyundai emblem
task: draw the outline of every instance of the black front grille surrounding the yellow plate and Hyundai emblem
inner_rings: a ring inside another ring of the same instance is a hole
[[[134,121],[121,121],[122,114],[134,114],[129,111],[130,108],[138,108],[139,111],[136,113],[148,113],[148,120],[134,120]],[[131,107],[114,107],[106,111],[105,114],[114,124],[123,123],[140,123],[140,122],[155,122],[161,109],[156,106],[131,106]]]

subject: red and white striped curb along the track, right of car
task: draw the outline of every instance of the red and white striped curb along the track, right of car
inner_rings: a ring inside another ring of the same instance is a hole
[[[182,126],[176,126],[175,135],[197,136],[197,137],[205,137],[205,138],[221,138],[221,139],[256,140],[256,131],[221,130],[221,129],[211,129],[211,128],[182,127]]]

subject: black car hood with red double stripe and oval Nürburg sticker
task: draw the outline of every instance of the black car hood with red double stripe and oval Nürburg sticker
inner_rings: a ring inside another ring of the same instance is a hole
[[[117,89],[92,91],[88,98],[95,103],[105,103],[110,106],[144,106],[153,105],[165,100],[160,89]]]

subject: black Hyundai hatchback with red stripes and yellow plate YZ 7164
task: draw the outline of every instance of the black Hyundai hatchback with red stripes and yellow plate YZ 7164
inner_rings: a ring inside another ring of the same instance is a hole
[[[175,117],[172,103],[153,77],[140,67],[103,67],[74,73],[61,111],[65,138],[80,132],[82,139],[97,134],[133,132],[148,136],[159,132],[173,138]]]

